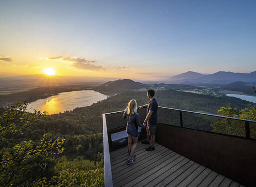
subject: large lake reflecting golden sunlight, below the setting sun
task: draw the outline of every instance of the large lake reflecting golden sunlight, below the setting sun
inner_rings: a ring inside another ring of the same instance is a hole
[[[57,96],[51,96],[45,99],[39,99],[29,104],[28,112],[34,112],[34,109],[48,114],[58,114],[64,111],[71,111],[76,107],[90,106],[108,96],[93,90],[63,92]]]

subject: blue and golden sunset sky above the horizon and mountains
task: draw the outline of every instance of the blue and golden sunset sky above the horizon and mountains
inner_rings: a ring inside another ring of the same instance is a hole
[[[1,0],[0,77],[256,70],[255,0]]]

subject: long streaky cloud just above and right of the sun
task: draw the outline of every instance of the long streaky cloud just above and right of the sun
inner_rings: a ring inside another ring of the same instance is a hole
[[[106,70],[101,65],[95,65],[96,61],[89,61],[85,58],[76,58],[71,56],[53,56],[47,58],[48,60],[61,60],[61,61],[68,61],[72,62],[72,66],[77,69],[85,69],[85,70],[92,70],[92,71],[99,71],[99,70]]]

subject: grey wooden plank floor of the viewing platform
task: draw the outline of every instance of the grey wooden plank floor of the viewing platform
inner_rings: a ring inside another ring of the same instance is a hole
[[[110,153],[114,187],[243,187],[157,143],[155,151],[147,147],[138,143],[136,162],[130,165],[127,147]]]

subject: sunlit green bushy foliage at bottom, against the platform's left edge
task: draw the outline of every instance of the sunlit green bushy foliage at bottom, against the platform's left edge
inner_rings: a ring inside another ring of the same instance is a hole
[[[53,170],[56,173],[50,181],[44,177],[37,181],[33,187],[103,187],[104,164],[103,160],[94,162],[85,160],[82,156],[72,161],[61,157]]]

